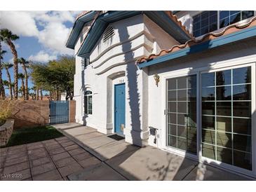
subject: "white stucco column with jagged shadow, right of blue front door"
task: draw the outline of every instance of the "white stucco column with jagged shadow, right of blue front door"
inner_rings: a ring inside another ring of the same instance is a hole
[[[148,131],[148,74],[135,63],[127,65],[126,83],[126,142],[147,145]]]

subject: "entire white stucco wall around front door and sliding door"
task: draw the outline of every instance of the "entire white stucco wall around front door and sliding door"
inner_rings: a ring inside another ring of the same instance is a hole
[[[96,128],[105,134],[113,133],[114,85],[126,83],[124,135],[126,142],[140,146],[149,144],[159,149],[170,150],[166,146],[164,114],[167,78],[256,62],[254,38],[138,69],[135,65],[137,58],[158,53],[163,48],[170,48],[177,41],[144,15],[137,15],[111,25],[114,27],[115,35],[109,41],[103,42],[102,38],[97,41],[90,53],[92,63],[84,71],[81,67],[81,58],[76,57],[76,122]],[[78,42],[75,52],[79,46]],[[159,86],[156,86],[154,74],[160,76]],[[83,114],[83,92],[86,89],[93,92],[93,114],[88,116]],[[156,136],[149,134],[149,127],[157,129]]]

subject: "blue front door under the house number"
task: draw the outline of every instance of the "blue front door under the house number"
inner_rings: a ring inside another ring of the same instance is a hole
[[[114,130],[123,135],[126,123],[126,84],[114,86]]]

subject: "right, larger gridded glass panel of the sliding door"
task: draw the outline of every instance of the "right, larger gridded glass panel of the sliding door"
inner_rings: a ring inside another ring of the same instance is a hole
[[[201,81],[202,156],[252,170],[250,67],[201,74]]]

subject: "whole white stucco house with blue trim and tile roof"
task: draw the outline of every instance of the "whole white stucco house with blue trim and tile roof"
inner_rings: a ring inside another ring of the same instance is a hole
[[[255,13],[81,13],[76,122],[256,177]]]

